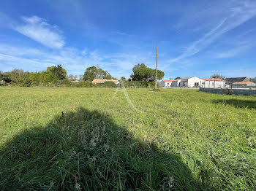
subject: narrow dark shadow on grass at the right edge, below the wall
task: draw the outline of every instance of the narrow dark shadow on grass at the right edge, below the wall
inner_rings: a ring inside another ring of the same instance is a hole
[[[236,108],[249,108],[249,109],[256,109],[256,99],[255,101],[252,100],[241,100],[241,99],[226,99],[226,100],[214,100],[214,104],[225,104],[234,106]]]

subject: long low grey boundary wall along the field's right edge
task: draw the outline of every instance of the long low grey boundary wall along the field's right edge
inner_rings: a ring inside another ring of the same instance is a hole
[[[233,94],[233,95],[256,95],[256,90],[243,89],[216,89],[200,87],[199,91],[206,93]]]

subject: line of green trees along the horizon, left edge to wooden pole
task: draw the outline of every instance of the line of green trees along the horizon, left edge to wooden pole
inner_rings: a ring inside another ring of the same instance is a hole
[[[129,79],[121,77],[123,81],[154,82],[155,70],[148,68],[144,63],[138,63],[132,68],[132,74]],[[165,76],[163,71],[157,71],[157,79]],[[69,86],[74,82],[86,82],[86,87],[91,87],[90,83],[94,79],[116,79],[108,71],[98,66],[90,66],[83,75],[74,76],[69,74],[61,65],[50,66],[45,71],[29,72],[23,69],[13,69],[12,71],[0,71],[0,85],[18,85],[18,86]],[[133,83],[134,84],[134,83]],[[144,84],[143,84],[144,85]],[[83,85],[84,86],[84,85]]]

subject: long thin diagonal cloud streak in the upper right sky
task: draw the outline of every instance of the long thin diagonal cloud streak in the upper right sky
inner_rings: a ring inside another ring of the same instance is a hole
[[[241,26],[241,24],[245,23],[247,20],[250,20],[252,17],[255,17],[256,2],[244,1],[244,4],[241,4],[238,7],[230,7],[227,12],[228,15],[225,18],[222,18],[217,26],[203,35],[202,38],[192,42],[192,44],[190,44],[189,47],[187,47],[187,49],[181,55],[171,59],[170,63],[174,63],[180,61],[181,59],[188,58],[197,54],[215,42],[223,34],[233,30],[238,26]]]

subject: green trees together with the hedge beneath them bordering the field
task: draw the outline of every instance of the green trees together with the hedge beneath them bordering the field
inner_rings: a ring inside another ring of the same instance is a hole
[[[142,70],[140,70],[142,69]],[[144,73],[150,71],[149,73]],[[149,69],[145,64],[135,65],[135,78],[125,79],[121,77],[121,80],[124,81],[126,87],[153,87],[152,82],[154,82],[155,72],[153,69]],[[143,72],[140,72],[143,71]],[[158,79],[162,79],[165,73],[159,71]],[[100,69],[96,66],[88,67],[83,75],[74,76],[69,74],[67,76],[67,71],[58,66],[50,66],[46,71],[38,72],[29,72],[23,71],[22,69],[14,69],[10,72],[1,72],[0,71],[0,86],[21,86],[21,87],[117,87],[113,82],[105,82],[99,84],[93,84],[94,79],[116,79],[112,77],[108,71]]]

